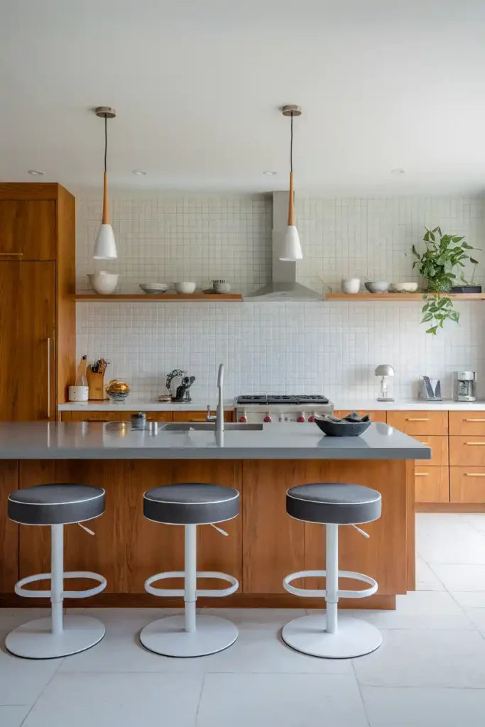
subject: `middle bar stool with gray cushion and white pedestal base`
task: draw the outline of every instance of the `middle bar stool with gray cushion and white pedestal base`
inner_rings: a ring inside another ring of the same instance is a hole
[[[196,618],[197,596],[224,596],[239,587],[236,578],[225,573],[197,571],[197,526],[223,523],[239,513],[239,492],[231,487],[203,483],[180,483],[148,490],[143,495],[143,515],[148,520],[185,528],[185,570],[157,573],[145,581],[153,595],[183,595],[184,614],[151,622],[140,632],[140,642],[164,656],[204,656],[228,648],[238,638],[236,626],[217,616]],[[220,528],[216,528],[227,535]],[[166,578],[183,578],[183,589],[156,588],[152,583]],[[197,578],[218,578],[229,582],[219,590],[197,589]]]

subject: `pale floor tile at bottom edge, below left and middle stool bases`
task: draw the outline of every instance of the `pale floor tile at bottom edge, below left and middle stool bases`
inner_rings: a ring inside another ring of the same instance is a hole
[[[23,727],[193,727],[202,677],[57,674]]]

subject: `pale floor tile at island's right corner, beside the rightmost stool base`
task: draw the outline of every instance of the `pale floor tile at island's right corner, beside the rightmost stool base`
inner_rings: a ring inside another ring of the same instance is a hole
[[[396,611],[353,611],[380,629],[465,629],[473,623],[446,591],[409,591],[398,595]]]

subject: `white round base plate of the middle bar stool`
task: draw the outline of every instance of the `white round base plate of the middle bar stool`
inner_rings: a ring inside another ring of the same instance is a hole
[[[238,638],[236,626],[217,616],[196,616],[196,631],[185,631],[183,614],[153,621],[140,632],[149,651],[163,656],[207,656],[231,646]]]

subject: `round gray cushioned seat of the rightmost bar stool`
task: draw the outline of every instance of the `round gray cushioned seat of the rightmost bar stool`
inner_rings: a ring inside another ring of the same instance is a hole
[[[325,482],[286,491],[286,512],[307,523],[372,523],[380,518],[381,505],[380,492],[361,485]]]

